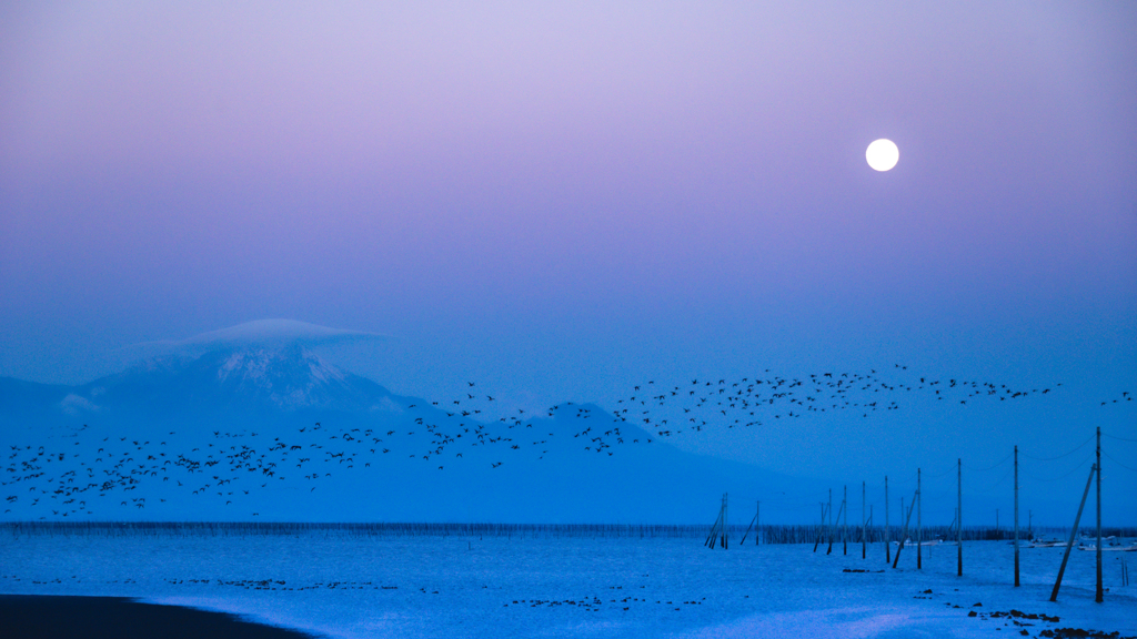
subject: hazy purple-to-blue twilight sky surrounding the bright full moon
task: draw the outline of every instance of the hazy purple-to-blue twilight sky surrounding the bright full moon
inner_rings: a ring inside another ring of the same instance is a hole
[[[903,363],[1069,389],[936,437],[1137,431],[1132,3],[230,5],[0,8],[0,374],[285,317],[426,397]]]

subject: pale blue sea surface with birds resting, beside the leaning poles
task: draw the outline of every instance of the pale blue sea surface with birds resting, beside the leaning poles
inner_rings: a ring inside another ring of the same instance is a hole
[[[702,541],[20,533],[0,537],[0,594],[138,597],[342,639],[1137,636],[1137,588],[1121,586],[1137,553],[1103,554],[1109,590],[1095,604],[1094,553],[1073,550],[1051,603],[1062,548],[1023,548],[1013,588],[1005,541],[964,542],[962,578],[947,545],[922,548],[920,570],[906,547],[894,570],[881,543],[862,559],[860,543]],[[1002,616],[1012,609],[1060,621]]]

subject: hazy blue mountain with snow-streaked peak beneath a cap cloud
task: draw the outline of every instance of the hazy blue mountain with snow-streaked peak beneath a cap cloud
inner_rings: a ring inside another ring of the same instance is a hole
[[[294,341],[230,340],[76,387],[5,377],[2,518],[709,524],[725,491],[822,490],[597,406],[488,420],[491,401],[397,396]]]

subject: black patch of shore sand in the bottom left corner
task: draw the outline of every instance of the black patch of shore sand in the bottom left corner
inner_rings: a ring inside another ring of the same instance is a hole
[[[0,595],[5,639],[310,639],[233,615],[123,597]]]

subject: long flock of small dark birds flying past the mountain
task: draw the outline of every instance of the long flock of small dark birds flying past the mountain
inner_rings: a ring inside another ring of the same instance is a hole
[[[315,491],[321,481],[334,474],[359,472],[392,457],[437,465],[438,471],[467,462],[498,468],[523,447],[534,460],[550,451],[573,449],[612,456],[615,447],[648,445],[653,438],[682,432],[760,428],[822,413],[852,412],[856,417],[869,417],[874,412],[899,409],[905,395],[923,393],[929,400],[966,406],[1046,396],[1062,385],[1026,390],[905,371],[897,365],[891,380],[877,371],[803,377],[765,371],[740,380],[695,379],[667,388],[648,381],[634,385],[611,410],[568,403],[541,414],[516,409],[497,420],[483,416],[492,412],[496,399],[476,392],[476,384],[468,382],[462,397],[430,405],[406,404],[401,414],[376,418],[372,428],[314,423],[288,432],[209,430],[179,435],[167,431],[139,438],[84,425],[53,438],[55,448],[49,448],[50,443],[9,443],[0,495],[5,514],[18,508],[19,515],[38,518],[93,515],[97,506],[102,511],[108,505],[141,511],[152,508],[156,501],[192,498],[223,506],[238,503],[251,509],[257,496],[269,488]],[[898,381],[902,379],[906,381]],[[1131,400],[1124,392],[1112,401]]]

